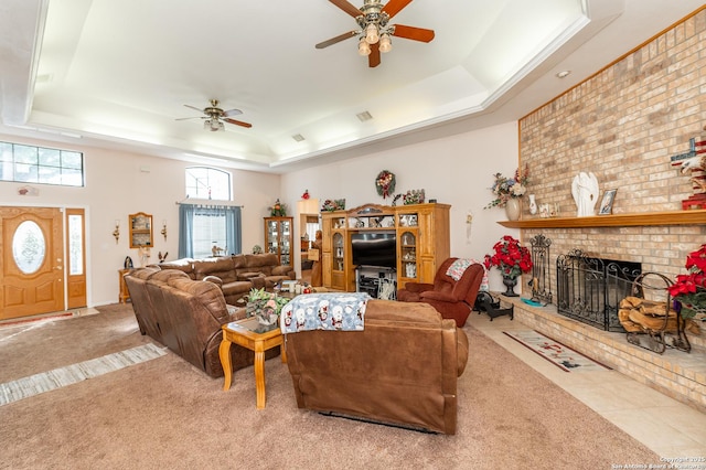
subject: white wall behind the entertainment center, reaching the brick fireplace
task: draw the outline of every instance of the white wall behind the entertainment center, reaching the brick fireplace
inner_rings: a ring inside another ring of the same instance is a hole
[[[483,209],[493,200],[489,190],[493,174],[514,175],[517,156],[517,125],[510,122],[288,173],[282,177],[282,201],[295,207],[308,189],[322,202],[345,197],[346,209],[391,204],[391,199],[377,195],[374,184],[382,170],[389,170],[397,180],[395,193],[424,189],[427,200],[451,204],[451,255],[482,260],[501,236],[520,236],[520,231],[495,223],[506,220],[504,210]],[[466,223],[469,212],[473,214],[470,233]],[[295,233],[299,233],[298,226]],[[299,263],[299,256],[296,259]],[[491,273],[491,289],[504,290],[496,269]]]

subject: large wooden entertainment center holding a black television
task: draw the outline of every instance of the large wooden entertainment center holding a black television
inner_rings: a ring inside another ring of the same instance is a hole
[[[448,204],[365,204],[321,214],[324,287],[366,291],[434,282],[450,255]],[[396,282],[396,285],[394,285]]]

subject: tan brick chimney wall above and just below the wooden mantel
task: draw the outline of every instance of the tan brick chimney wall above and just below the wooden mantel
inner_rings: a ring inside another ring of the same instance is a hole
[[[600,197],[618,189],[613,214],[681,211],[694,189],[670,158],[687,152],[692,137],[706,138],[704,126],[706,7],[520,120],[527,193],[537,204],[558,203],[559,217],[576,216],[571,181],[584,171],[596,174]],[[525,197],[522,220],[539,216],[528,205]],[[528,245],[536,234],[552,239],[554,291],[556,257],[571,248],[674,278],[686,255],[706,243],[706,224],[536,228],[523,229],[522,238]]]

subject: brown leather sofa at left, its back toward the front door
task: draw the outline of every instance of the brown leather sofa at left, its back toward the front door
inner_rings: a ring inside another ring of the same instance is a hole
[[[140,332],[162,343],[212,377],[222,377],[221,325],[245,318],[244,308],[225,302],[213,282],[191,279],[178,269],[138,268],[125,276]],[[267,359],[279,348],[267,351]],[[231,346],[233,371],[253,365],[255,353]]]

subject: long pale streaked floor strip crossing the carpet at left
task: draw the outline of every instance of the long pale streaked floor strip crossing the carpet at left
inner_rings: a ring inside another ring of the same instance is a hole
[[[164,349],[149,343],[7,382],[0,384],[0,406],[150,361],[164,354],[167,354]]]

